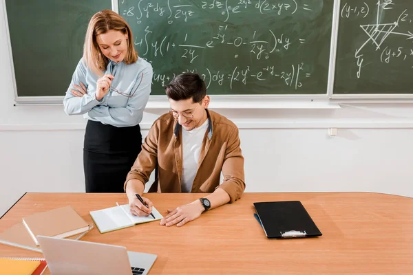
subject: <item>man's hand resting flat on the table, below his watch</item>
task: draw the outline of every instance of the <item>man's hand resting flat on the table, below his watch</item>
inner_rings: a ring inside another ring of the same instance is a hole
[[[205,208],[199,200],[175,209],[168,209],[168,214],[160,220],[160,225],[171,226],[176,224],[176,226],[182,226],[188,221],[198,219],[204,210]]]

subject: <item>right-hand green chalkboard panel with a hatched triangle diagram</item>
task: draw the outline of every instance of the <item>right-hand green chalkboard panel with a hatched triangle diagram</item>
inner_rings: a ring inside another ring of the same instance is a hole
[[[333,94],[412,94],[413,1],[345,0]]]

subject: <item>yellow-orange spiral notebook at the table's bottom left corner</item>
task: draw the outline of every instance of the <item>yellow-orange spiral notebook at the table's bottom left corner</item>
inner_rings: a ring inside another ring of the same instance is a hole
[[[41,275],[46,267],[43,258],[0,258],[0,274]]]

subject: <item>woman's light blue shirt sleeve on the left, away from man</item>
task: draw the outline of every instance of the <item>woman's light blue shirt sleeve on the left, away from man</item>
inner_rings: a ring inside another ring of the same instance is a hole
[[[70,91],[71,89],[75,89],[75,84],[80,86],[81,83],[83,83],[87,88],[86,71],[87,68],[82,58],[76,66],[76,69],[74,70],[72,81],[70,82],[70,86],[66,91],[65,98],[63,99],[65,113],[67,113],[68,115],[82,115],[83,113],[87,113],[88,111],[92,110],[92,108],[100,104],[100,101],[96,99],[95,92],[85,94],[85,96],[82,97],[77,97],[73,96],[72,91]]]

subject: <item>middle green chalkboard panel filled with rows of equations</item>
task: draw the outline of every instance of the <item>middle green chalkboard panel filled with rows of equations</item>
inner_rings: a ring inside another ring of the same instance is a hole
[[[152,94],[198,72],[209,94],[326,94],[333,1],[120,0]]]

